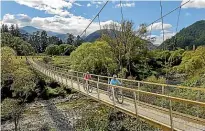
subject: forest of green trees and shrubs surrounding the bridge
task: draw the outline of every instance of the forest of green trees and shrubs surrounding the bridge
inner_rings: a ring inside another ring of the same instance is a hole
[[[35,32],[28,36],[21,34],[17,25],[10,27],[2,25],[1,120],[3,122],[13,120],[17,131],[22,112],[28,112],[27,103],[32,103],[37,99],[49,100],[75,94],[33,69],[24,56],[41,56],[41,61],[46,64],[80,72],[89,71],[92,74],[106,76],[117,74],[119,78],[205,88],[205,37],[203,37],[205,29],[201,28],[205,27],[204,21],[182,29],[176,34],[175,45],[171,44],[175,39],[173,37],[162,43],[166,45],[166,49],[153,50],[148,49],[147,40],[142,39],[147,34],[144,24],[137,31],[134,30],[134,23],[131,21],[123,21],[121,25],[121,27],[115,23],[107,25],[101,37],[94,42],[85,42],[79,36],[75,38],[72,34],[68,34],[67,41],[63,42],[57,37],[48,36],[46,31]],[[196,48],[192,49],[192,45]],[[192,91],[177,93],[173,92],[173,95],[190,99],[196,95]],[[201,99],[204,99],[204,96],[201,96]],[[77,107],[83,108],[86,103],[92,105],[92,100],[88,98],[79,97],[77,101],[79,102]],[[96,102],[94,103],[97,105]],[[74,104],[68,102],[67,106],[62,103],[58,106],[70,109],[70,106]],[[177,105],[174,106],[177,108]],[[108,122],[111,119],[111,109],[99,105],[94,110],[96,110],[94,114],[89,110],[87,114],[83,114],[84,119],[78,122],[84,122],[84,125],[82,124],[79,130],[83,128],[111,130],[112,125]],[[190,113],[193,114],[193,112]],[[204,116],[203,110],[200,113]],[[91,118],[92,115],[102,117],[92,120],[94,119]],[[139,128],[136,123],[144,123],[128,116],[124,118],[125,126],[119,127],[121,130]],[[131,120],[137,127],[131,127],[128,124]],[[96,121],[98,123],[95,123]],[[98,125],[101,125],[101,129]],[[143,129],[156,130],[147,123],[143,124]]]

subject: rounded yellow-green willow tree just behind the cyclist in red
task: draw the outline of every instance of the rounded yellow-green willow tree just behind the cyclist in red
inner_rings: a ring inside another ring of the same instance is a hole
[[[106,42],[83,43],[70,55],[71,68],[93,73],[113,73],[117,67],[113,52]]]

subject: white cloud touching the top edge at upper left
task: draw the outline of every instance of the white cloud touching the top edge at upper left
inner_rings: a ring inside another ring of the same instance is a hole
[[[71,13],[69,13],[66,10],[63,10],[63,8],[70,9],[72,7],[71,2],[66,2],[64,0],[15,0],[17,3],[21,5],[26,5],[31,8],[35,8],[38,10],[43,10],[46,13],[49,14],[56,14],[60,16],[72,16]]]

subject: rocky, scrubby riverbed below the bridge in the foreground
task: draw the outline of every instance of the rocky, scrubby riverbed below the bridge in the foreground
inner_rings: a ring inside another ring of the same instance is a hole
[[[158,130],[79,93],[65,98],[38,100],[26,105],[21,131],[135,131]],[[14,130],[14,122],[2,123],[2,131]]]

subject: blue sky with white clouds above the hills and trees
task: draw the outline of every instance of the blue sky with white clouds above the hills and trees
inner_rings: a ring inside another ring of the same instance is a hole
[[[162,13],[173,10],[185,3],[181,1],[163,1]],[[33,26],[46,31],[58,33],[72,33],[80,35],[92,18],[105,4],[105,1],[75,1],[75,0],[15,0],[1,1],[0,22],[3,24],[18,24],[19,27]],[[142,23],[151,24],[160,18],[160,1],[122,1],[122,12],[125,20],[134,23],[134,30],[139,29]],[[100,25],[121,21],[120,1],[109,1],[99,15]],[[179,10],[171,13],[163,19],[164,40],[172,37],[196,21],[205,20],[205,0],[191,0],[181,8],[179,24],[177,28],[177,17]],[[177,28],[177,30],[176,30]],[[96,19],[87,29],[88,35],[99,30],[99,21]],[[147,27],[149,36],[156,37],[154,44],[163,42],[163,31],[161,20]],[[151,30],[152,29],[152,30]],[[149,37],[148,36],[148,37]]]

